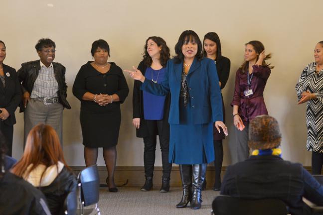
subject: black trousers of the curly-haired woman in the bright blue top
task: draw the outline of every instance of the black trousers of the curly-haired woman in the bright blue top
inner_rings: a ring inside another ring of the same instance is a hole
[[[147,120],[148,136],[144,137],[144,165],[146,177],[153,177],[154,175],[157,134],[159,134],[162,151],[162,177],[170,178],[171,163],[168,163],[169,136],[162,135],[162,123],[162,120]]]

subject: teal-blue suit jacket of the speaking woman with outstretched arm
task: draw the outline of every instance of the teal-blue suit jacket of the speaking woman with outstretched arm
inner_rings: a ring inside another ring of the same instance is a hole
[[[179,124],[179,94],[183,62],[175,64],[168,60],[164,81],[161,85],[145,80],[142,90],[155,95],[165,96],[170,92],[170,109],[168,122]],[[187,86],[192,107],[194,124],[205,124],[211,121],[223,121],[222,98],[214,61],[194,58],[187,74]]]

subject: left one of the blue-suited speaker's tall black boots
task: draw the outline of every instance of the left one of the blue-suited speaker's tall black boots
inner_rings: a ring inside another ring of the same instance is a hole
[[[176,208],[185,208],[191,201],[192,165],[179,165],[179,173],[182,181],[183,196]]]

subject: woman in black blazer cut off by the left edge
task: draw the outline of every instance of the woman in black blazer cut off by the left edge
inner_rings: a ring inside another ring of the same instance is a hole
[[[14,111],[21,100],[21,90],[15,69],[4,65],[5,44],[0,40],[0,130],[7,143],[7,155],[12,154]]]

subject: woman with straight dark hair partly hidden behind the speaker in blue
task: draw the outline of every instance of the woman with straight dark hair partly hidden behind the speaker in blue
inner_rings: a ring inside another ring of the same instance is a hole
[[[205,34],[204,39],[204,56],[214,60],[216,71],[219,77],[219,85],[221,90],[225,87],[226,82],[229,78],[230,73],[230,60],[222,56],[221,54],[221,42],[220,38],[215,32],[208,32]],[[221,93],[222,96],[222,93]],[[225,123],[225,110],[223,104],[222,96],[222,109],[223,109],[223,122]],[[223,146],[222,140],[225,138],[223,130],[219,133],[215,126],[213,126],[213,145],[214,145],[214,167],[215,167],[215,182],[213,186],[214,191],[220,191],[221,188],[221,169],[223,161]],[[206,181],[204,181],[204,186],[206,186]]]

